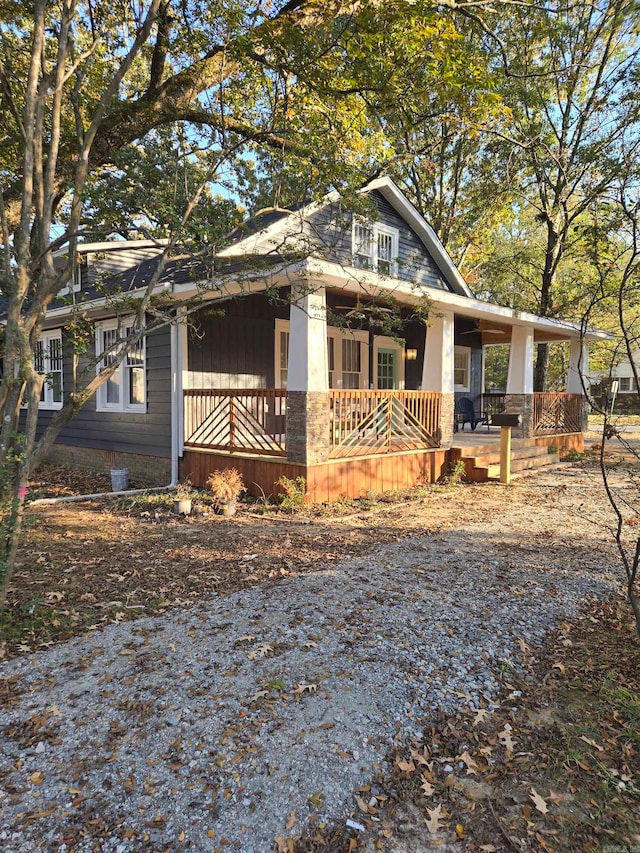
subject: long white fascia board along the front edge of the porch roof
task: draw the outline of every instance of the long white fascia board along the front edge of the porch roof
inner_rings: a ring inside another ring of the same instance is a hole
[[[373,272],[364,272],[361,275],[360,270],[357,276],[351,275],[340,264],[319,258],[309,259],[307,268],[309,275],[317,277],[319,284],[340,288],[354,294],[366,295],[375,292],[382,295],[386,291],[392,299],[408,305],[415,305],[426,297],[435,311],[454,311],[461,317],[470,317],[473,320],[493,320],[507,326],[530,326],[537,331],[566,335],[567,340],[581,336],[587,341],[615,340],[615,336],[609,332],[588,329],[583,335],[577,323],[539,317],[537,314],[516,311],[504,305],[483,302],[474,297],[461,296],[435,287],[417,286],[409,281],[389,279],[387,276],[380,276]]]

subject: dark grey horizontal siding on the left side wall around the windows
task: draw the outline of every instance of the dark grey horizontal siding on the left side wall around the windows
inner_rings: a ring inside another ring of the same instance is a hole
[[[93,352],[93,344],[90,347]],[[147,411],[98,412],[92,397],[60,431],[58,444],[143,456],[171,457],[171,338],[168,327],[147,336]],[[80,366],[80,370],[82,365]],[[72,387],[71,358],[65,346],[64,390]],[[40,411],[38,437],[55,414]]]

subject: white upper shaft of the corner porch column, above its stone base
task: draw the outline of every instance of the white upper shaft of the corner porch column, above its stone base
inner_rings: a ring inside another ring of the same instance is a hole
[[[305,292],[291,303],[289,327],[289,391],[329,390],[327,299],[324,287]]]

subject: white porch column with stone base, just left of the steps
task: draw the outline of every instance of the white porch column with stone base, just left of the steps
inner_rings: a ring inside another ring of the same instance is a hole
[[[439,391],[440,444],[451,447],[453,443],[453,312],[438,312],[426,330],[424,361],[422,362],[423,391]]]

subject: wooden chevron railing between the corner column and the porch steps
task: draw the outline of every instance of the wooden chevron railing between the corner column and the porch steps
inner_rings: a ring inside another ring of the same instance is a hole
[[[329,406],[332,459],[439,446],[439,393],[331,390]]]

